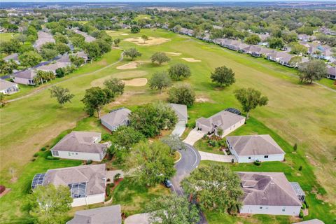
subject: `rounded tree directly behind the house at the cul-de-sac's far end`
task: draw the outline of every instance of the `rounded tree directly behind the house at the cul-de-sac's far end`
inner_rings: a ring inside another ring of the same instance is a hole
[[[168,102],[173,104],[186,104],[193,106],[195,102],[195,92],[188,84],[173,86],[169,92]]]

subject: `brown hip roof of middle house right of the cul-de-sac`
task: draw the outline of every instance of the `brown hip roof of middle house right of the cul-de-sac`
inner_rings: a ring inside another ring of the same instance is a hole
[[[238,155],[285,154],[269,134],[229,136],[226,140]]]

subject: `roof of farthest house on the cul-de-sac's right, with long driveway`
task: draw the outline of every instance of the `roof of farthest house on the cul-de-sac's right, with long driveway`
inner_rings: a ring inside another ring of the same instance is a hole
[[[199,118],[196,121],[207,127],[212,127],[216,125],[217,127],[223,128],[223,130],[239,123],[239,121],[245,120],[245,117],[231,113],[228,111],[220,111],[209,118]]]

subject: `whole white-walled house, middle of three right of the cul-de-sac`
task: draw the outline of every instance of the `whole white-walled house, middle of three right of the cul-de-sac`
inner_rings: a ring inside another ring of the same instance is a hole
[[[229,136],[226,143],[238,162],[283,161],[285,152],[269,134]]]

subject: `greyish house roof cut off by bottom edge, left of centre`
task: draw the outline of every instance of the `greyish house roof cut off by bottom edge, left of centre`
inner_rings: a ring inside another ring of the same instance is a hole
[[[75,217],[66,224],[121,224],[120,204],[97,209],[76,211]]]

